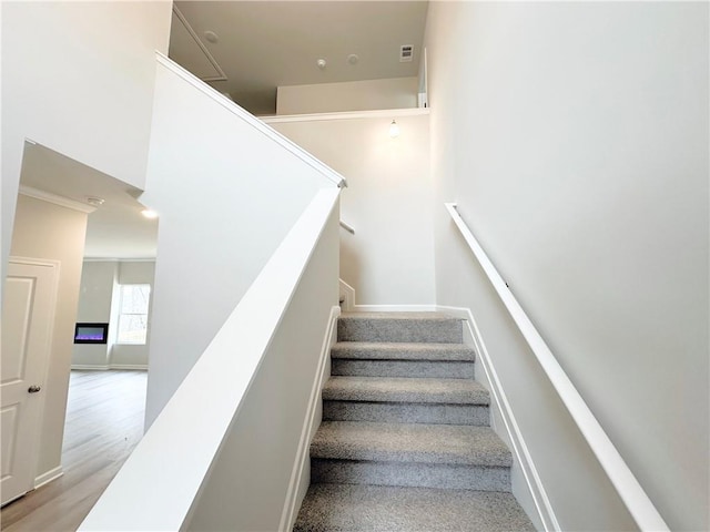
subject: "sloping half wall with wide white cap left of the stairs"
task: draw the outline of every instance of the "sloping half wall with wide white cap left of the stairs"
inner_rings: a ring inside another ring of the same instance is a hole
[[[290,525],[337,309],[338,196],[316,195],[80,530]]]

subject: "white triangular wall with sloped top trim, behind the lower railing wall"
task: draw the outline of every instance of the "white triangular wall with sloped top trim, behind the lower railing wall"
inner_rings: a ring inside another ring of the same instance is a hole
[[[336,186],[191,80],[169,60],[158,66],[141,197],[160,214],[148,424],[318,190]]]

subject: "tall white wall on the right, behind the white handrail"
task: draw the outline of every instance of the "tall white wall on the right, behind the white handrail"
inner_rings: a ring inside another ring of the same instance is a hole
[[[710,524],[708,9],[434,2],[427,25],[437,202],[458,203],[672,530]],[[544,379],[446,216],[438,303],[480,321],[561,528],[626,528],[534,427]]]

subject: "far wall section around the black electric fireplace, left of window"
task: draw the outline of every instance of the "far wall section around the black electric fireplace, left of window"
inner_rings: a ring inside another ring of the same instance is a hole
[[[111,323],[113,293],[115,289],[119,263],[84,260],[81,270],[79,310],[77,321],[109,324],[109,338],[114,336],[115,324]],[[106,344],[74,344],[71,357],[72,366],[106,369],[112,341]]]

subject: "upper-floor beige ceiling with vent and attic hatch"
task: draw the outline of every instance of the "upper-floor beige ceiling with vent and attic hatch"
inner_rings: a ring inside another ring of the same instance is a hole
[[[175,1],[170,58],[253,114],[274,114],[280,85],[417,76],[427,7],[426,1]],[[399,61],[402,45],[414,47],[410,62]],[[318,59],[326,61],[324,69]]]

